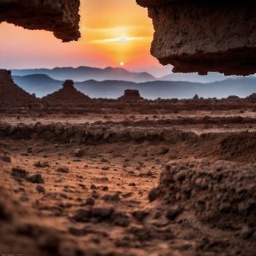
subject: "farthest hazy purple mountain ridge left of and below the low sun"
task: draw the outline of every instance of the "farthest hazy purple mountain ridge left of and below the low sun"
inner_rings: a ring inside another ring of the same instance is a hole
[[[100,69],[96,67],[56,67],[54,69],[13,69],[12,75],[24,76],[43,74],[55,80],[72,79],[74,81],[84,80],[124,80],[132,82],[147,82],[156,80],[147,72],[129,72],[127,69],[107,67]]]

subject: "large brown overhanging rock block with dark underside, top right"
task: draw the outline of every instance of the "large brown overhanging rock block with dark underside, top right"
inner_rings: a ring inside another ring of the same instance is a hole
[[[151,54],[173,72],[256,72],[254,1],[137,2],[153,20]]]

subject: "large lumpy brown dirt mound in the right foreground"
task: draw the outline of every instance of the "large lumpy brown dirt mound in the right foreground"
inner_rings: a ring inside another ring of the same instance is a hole
[[[170,162],[150,199],[195,214],[201,222],[227,230],[256,227],[255,164]]]

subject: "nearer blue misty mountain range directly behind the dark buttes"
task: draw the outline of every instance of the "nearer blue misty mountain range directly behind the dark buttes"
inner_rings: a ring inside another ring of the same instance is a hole
[[[44,97],[61,89],[63,80],[55,80],[48,75],[12,76],[18,86]],[[236,95],[246,97],[256,92],[256,78],[228,78],[212,83],[192,83],[187,81],[159,81],[135,83],[122,80],[86,80],[75,83],[75,88],[91,98],[116,99],[124,94],[125,89],[138,89],[146,99],[188,99],[197,94],[199,97],[228,97]]]

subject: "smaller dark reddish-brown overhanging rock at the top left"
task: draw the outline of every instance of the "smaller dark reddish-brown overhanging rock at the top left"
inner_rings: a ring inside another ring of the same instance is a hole
[[[26,29],[53,31],[64,42],[80,37],[80,0],[4,0],[0,1],[0,22]]]

